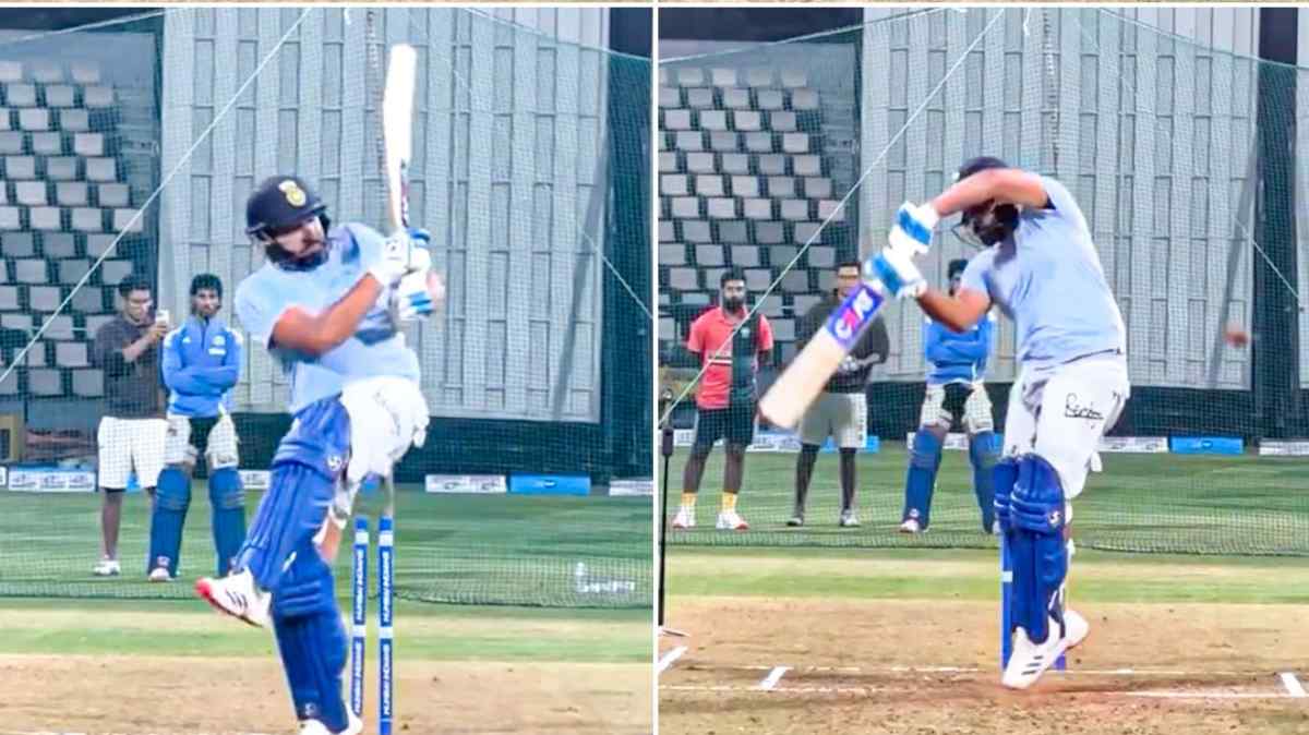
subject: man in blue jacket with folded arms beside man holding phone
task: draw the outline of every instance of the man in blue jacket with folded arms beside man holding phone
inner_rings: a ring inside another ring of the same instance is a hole
[[[202,454],[209,475],[220,577],[228,573],[245,540],[245,492],[237,473],[237,432],[230,413],[232,387],[241,377],[242,340],[217,316],[220,309],[223,281],[212,273],[195,276],[191,316],[164,339],[169,430],[165,468],[151,518],[152,582],[177,577],[182,524],[191,504],[191,473]]]

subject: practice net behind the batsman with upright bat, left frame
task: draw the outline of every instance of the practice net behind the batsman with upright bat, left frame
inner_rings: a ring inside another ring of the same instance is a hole
[[[177,326],[199,273],[219,277],[217,318],[243,337],[233,297],[264,260],[245,200],[270,175],[306,179],[335,224],[384,229],[384,64],[411,43],[411,221],[432,233],[448,297],[407,330],[432,422],[397,470],[397,594],[648,606],[651,65],[603,50],[602,13],[188,8],[0,35],[0,595],[183,598],[215,573],[202,455],[179,578],[145,581],[152,460],[131,442],[162,434],[97,442],[97,429],[113,411],[158,425],[160,386],[111,409],[106,371],[124,369],[93,345],[124,280],[143,279],[149,313]],[[236,368],[249,518],[291,424],[289,386],[263,345],[233,341],[221,360]],[[161,370],[165,348],[127,361],[140,386],[200,364]],[[132,454],[120,575],[96,577],[90,490],[106,458]],[[356,506],[374,539],[384,496]],[[339,555],[343,595],[348,566]]]

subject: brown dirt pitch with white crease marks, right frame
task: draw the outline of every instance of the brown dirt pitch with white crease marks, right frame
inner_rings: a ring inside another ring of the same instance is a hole
[[[1068,671],[1009,692],[994,603],[673,598],[660,734],[1309,734],[1302,607],[1079,609]]]

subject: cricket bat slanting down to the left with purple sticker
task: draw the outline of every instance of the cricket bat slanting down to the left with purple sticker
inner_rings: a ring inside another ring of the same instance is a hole
[[[776,426],[795,428],[885,302],[880,282],[861,281],[772,382],[759,413]]]

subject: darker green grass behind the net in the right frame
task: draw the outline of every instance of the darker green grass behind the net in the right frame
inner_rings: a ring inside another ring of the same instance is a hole
[[[681,490],[689,451],[673,458],[669,514]],[[723,451],[709,458],[696,506],[698,527],[669,535],[670,545],[733,547],[946,547],[994,548],[982,532],[967,455],[946,451],[937,475],[931,531],[894,532],[903,505],[906,453],[884,442],[860,454],[856,506],[864,526],[838,528],[840,490],[835,454],[822,454],[809,490],[806,526],[788,528],[796,454],[751,453],[738,510],[745,534],[719,532]],[[1073,538],[1080,548],[1202,555],[1309,556],[1309,459],[1175,454],[1105,454],[1073,504]]]

